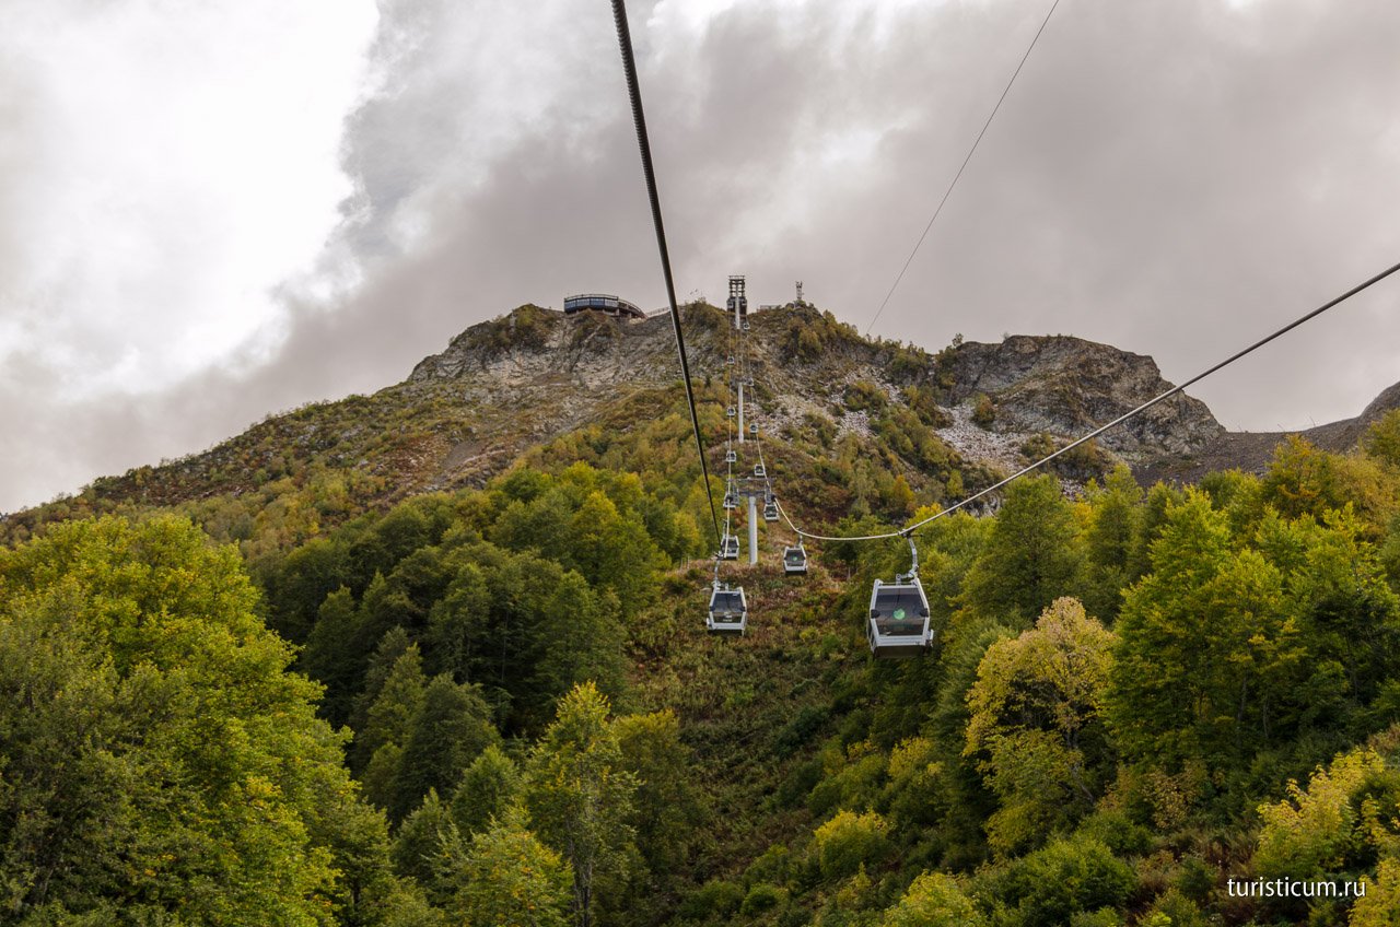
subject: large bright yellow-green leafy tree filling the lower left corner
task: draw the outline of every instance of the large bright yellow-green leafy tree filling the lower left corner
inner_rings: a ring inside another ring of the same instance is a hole
[[[371,923],[393,881],[318,688],[188,521],[0,550],[0,909],[32,923]]]

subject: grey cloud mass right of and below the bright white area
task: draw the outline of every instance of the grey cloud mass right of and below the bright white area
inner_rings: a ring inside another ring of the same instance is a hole
[[[865,328],[1046,8],[633,4],[680,295],[804,279]],[[379,36],[323,258],[340,284],[286,288],[270,358],[15,426],[70,482],[398,381],[519,302],[662,304],[599,8],[384,3]],[[876,333],[1074,333],[1184,379],[1400,259],[1397,46],[1387,3],[1063,0]],[[1397,304],[1383,287],[1196,392],[1235,427],[1352,414],[1400,379]]]

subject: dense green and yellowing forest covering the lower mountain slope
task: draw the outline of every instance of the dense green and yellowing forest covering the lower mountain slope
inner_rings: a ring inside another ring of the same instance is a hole
[[[868,528],[962,489],[925,435],[802,464],[813,421],[773,458]],[[895,542],[734,567],[750,633],[704,634],[687,441],[671,409],[392,507],[312,469],[11,529],[3,920],[1400,921],[1400,413],[1257,476],[1036,476],[934,521],[934,650],[882,662]]]

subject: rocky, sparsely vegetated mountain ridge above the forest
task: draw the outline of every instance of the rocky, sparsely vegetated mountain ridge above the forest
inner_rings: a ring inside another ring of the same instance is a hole
[[[700,400],[722,414],[728,319],[706,304],[686,305],[682,315],[692,372],[706,384]],[[749,360],[767,435],[815,435],[809,444],[820,454],[823,442],[829,451],[847,435],[902,444],[895,433],[918,428],[917,419],[931,437],[921,458],[906,454],[902,468],[934,501],[1019,469],[1170,388],[1151,357],[1065,335],[958,339],[930,353],[865,339],[811,304],[770,308],[750,315],[750,323]],[[353,472],[365,483],[365,499],[389,503],[480,486],[532,448],[580,428],[629,430],[679,399],[668,318],[623,322],[526,304],[469,326],[399,384],[270,414],[207,451],[101,478],[80,496],[195,503],[241,496],[312,468]],[[1400,384],[1352,419],[1298,434],[1326,449],[1347,449],[1397,406]],[[714,449],[722,433],[711,424]],[[1183,393],[1102,435],[1060,476],[1074,492],[1117,462],[1144,483],[1194,482],[1214,469],[1259,471],[1287,434],[1226,431],[1204,402]]]

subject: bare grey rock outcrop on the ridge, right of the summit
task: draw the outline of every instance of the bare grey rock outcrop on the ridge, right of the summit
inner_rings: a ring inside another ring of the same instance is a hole
[[[997,430],[1078,435],[1172,388],[1151,357],[1064,335],[967,342],[951,363],[953,400],[990,396]],[[1183,455],[1222,430],[1205,403],[1176,395],[1099,442],[1130,459]]]

